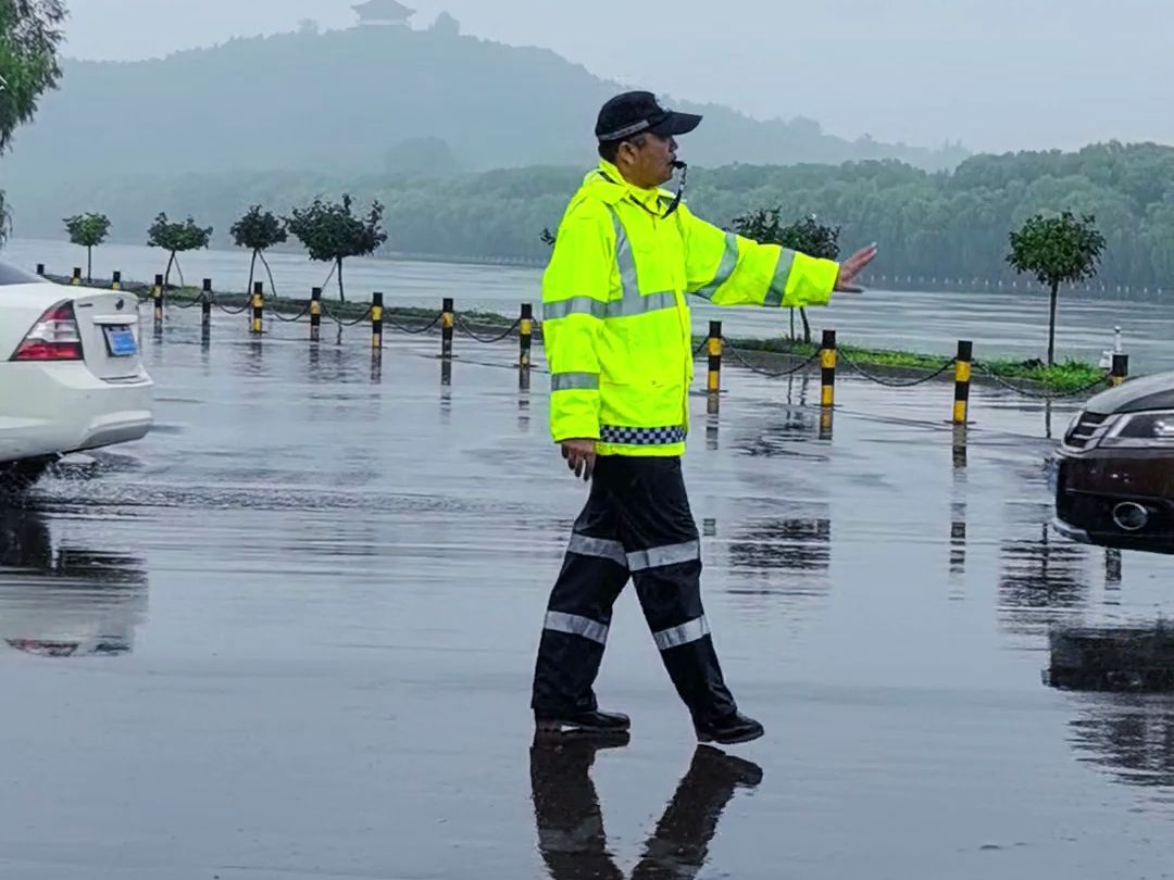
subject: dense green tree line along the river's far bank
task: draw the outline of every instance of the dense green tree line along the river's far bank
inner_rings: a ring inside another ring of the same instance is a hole
[[[582,169],[558,167],[451,180],[216,175],[169,184],[112,182],[100,196],[115,226],[141,224],[160,204],[177,204],[227,230],[249,204],[304,204],[308,192],[362,191],[386,205],[380,219],[389,233],[387,251],[544,260],[549,249],[540,232],[544,228],[556,232],[567,198],[581,180]],[[248,202],[242,203],[242,194]],[[54,211],[69,211],[68,198],[68,194],[46,194],[42,201]],[[54,199],[60,201],[54,204]],[[1005,260],[1011,230],[1041,211],[1095,215],[1106,244],[1101,282],[1139,290],[1174,287],[1174,149],[1153,144],[976,156],[952,174],[889,161],[696,169],[689,202],[695,212],[723,228],[776,207],[789,221],[814,215],[839,229],[845,249],[879,243],[875,272],[890,278],[1007,283],[1016,277]]]

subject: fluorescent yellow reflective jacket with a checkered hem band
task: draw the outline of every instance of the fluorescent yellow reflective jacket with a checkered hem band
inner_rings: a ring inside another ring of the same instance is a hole
[[[583,180],[542,277],[542,339],[555,442],[600,455],[681,455],[693,338],[687,293],[715,305],[808,306],[839,266],[758,244],[627,183],[609,162]]]

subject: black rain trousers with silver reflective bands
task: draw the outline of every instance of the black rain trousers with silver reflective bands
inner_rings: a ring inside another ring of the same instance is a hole
[[[679,458],[600,456],[547,605],[531,706],[594,711],[612,605],[632,578],[676,691],[697,722],[735,711],[701,604],[701,542]]]

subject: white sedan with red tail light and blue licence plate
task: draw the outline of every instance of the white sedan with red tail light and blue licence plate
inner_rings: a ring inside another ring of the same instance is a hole
[[[63,454],[144,436],[153,395],[137,297],[0,262],[0,492],[26,488]]]

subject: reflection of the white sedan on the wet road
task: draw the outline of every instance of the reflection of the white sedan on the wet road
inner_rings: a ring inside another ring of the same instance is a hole
[[[141,566],[54,547],[40,512],[0,509],[0,644],[52,657],[129,652],[147,604]]]

